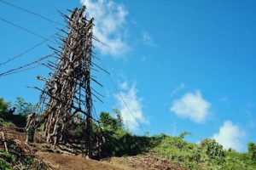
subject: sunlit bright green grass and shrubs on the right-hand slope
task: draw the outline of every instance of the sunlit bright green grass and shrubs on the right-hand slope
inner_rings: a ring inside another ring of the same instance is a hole
[[[177,161],[189,169],[256,169],[256,161],[248,153],[223,150],[212,139],[207,139],[207,144],[193,144],[180,137],[165,136],[153,150],[157,155]]]

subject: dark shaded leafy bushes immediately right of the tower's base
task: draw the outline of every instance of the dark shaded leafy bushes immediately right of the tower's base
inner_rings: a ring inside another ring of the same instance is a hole
[[[113,110],[116,117],[108,112],[99,116],[100,132],[105,139],[102,144],[103,157],[106,156],[135,156],[150,148],[152,139],[145,136],[136,136],[123,126],[123,120],[118,110]]]

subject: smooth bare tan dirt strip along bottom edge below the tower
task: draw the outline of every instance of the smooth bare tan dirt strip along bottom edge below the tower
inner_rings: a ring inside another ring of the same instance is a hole
[[[183,167],[177,163],[160,160],[151,155],[112,157],[102,161],[41,151],[38,151],[36,155],[53,170],[183,170]]]

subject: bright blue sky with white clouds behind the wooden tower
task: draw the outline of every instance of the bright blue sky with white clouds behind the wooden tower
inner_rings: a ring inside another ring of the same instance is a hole
[[[8,1],[64,24],[57,10],[80,7],[78,1]],[[94,33],[109,47],[95,42],[96,54],[111,72],[117,93],[104,72],[95,73],[104,88],[104,104],[96,111],[119,108],[125,125],[142,130],[125,107],[129,106],[150,134],[177,135],[189,131],[189,141],[213,138],[225,148],[247,150],[256,141],[256,18],[254,1],[116,1],[87,0],[89,16],[95,18]],[[44,37],[57,30],[53,23],[0,3],[0,18]],[[38,42],[40,37],[0,20],[0,63]],[[31,52],[0,65],[0,72],[51,54],[45,42]],[[38,67],[0,77],[0,96],[15,101],[21,96],[36,103],[43,87]],[[122,96],[122,97],[120,97]]]

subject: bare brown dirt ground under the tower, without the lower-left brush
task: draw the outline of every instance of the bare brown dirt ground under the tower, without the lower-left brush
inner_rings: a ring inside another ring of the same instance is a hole
[[[39,160],[52,170],[184,170],[176,162],[167,161],[154,156],[154,153],[148,153],[146,156],[124,156],[112,157],[102,161],[90,160],[82,156],[72,156],[67,154],[55,153],[53,150],[45,150],[42,144],[42,138],[37,133],[36,143],[27,145],[24,143],[26,139],[22,129],[9,129],[0,127],[0,133],[4,133],[5,141],[15,141],[20,148],[27,154],[32,154],[38,157]],[[1,136],[0,136],[1,140]],[[2,138],[3,140],[3,138]],[[37,143],[39,142],[39,143]],[[41,143],[41,144],[40,144]],[[3,148],[3,146],[0,146]],[[60,151],[59,151],[60,152]]]

